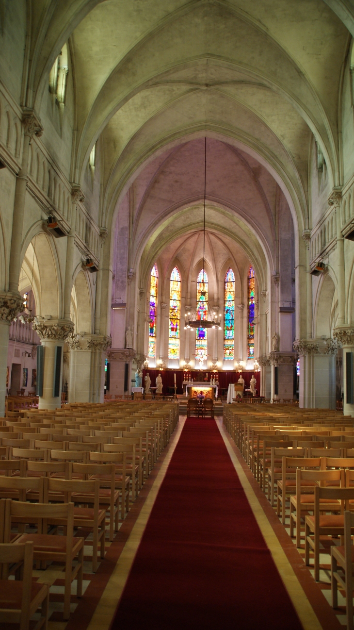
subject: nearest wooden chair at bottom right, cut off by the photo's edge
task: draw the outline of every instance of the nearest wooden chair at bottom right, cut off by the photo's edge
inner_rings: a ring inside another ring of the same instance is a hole
[[[354,630],[353,623],[353,575],[354,575],[354,546],[351,544],[351,534],[354,529],[354,514],[346,510],[344,513],[344,545],[331,546],[331,587],[332,607],[338,608],[338,586],[345,592],[346,598],[346,627]],[[345,575],[338,573],[338,567]]]

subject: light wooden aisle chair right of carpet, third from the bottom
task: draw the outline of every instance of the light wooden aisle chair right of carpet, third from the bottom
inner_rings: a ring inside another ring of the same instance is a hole
[[[294,525],[296,527],[296,546],[300,547],[301,517],[307,512],[314,511],[314,489],[304,488],[305,480],[315,481],[317,484],[332,486],[334,483],[345,487],[345,473],[338,471],[309,471],[297,469],[296,471],[296,495],[290,496],[290,537],[294,537]],[[305,493],[304,493],[305,490]],[[322,499],[321,507],[325,512],[340,512],[341,504],[338,500]]]

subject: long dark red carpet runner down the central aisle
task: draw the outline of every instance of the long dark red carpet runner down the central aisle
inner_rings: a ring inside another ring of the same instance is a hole
[[[111,628],[302,628],[214,420],[186,420]]]

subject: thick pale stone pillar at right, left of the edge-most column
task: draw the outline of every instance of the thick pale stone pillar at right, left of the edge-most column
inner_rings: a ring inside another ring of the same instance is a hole
[[[336,408],[336,364],[334,347],[329,341],[295,341],[299,355],[299,406],[307,409]]]

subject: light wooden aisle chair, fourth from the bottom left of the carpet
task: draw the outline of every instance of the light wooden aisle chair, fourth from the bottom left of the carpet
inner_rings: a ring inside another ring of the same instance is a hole
[[[96,478],[100,484],[100,508],[110,513],[110,541],[113,541],[115,532],[118,532],[118,512],[120,490],[115,489],[115,465],[114,464],[69,464],[69,478],[72,476],[81,479]],[[109,487],[107,487],[109,484]],[[81,490],[73,493],[74,501],[81,501],[92,505],[94,496],[92,493]]]

